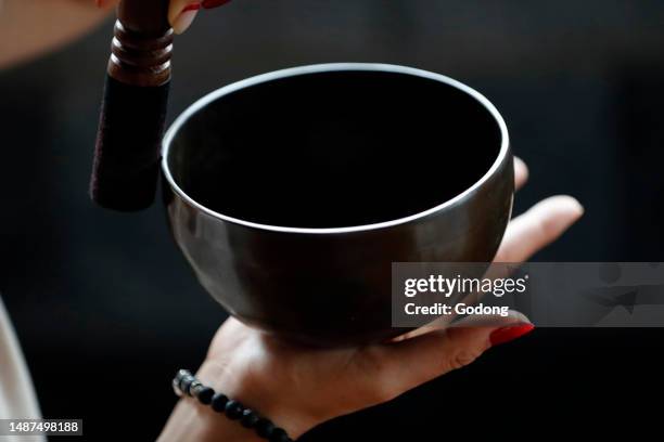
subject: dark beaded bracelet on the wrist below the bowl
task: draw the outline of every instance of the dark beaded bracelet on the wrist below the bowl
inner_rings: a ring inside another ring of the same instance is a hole
[[[178,372],[173,379],[173,389],[178,396],[195,398],[203,405],[210,405],[215,412],[225,414],[229,419],[240,420],[244,428],[254,429],[256,434],[270,442],[293,442],[283,428],[274,426],[270,419],[259,416],[242,403],[204,386],[188,369]]]

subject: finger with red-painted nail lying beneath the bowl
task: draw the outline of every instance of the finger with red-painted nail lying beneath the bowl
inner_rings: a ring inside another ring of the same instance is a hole
[[[373,348],[365,355],[381,373],[384,400],[471,364],[493,346],[516,339],[534,326],[521,313],[508,316],[472,316],[459,326],[431,332],[401,342]]]

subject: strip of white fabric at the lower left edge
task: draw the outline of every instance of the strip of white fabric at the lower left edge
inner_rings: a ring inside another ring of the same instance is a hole
[[[0,0],[1,1],[1,0]],[[38,419],[39,404],[18,340],[0,298],[0,419]],[[41,437],[3,437],[1,442],[44,442]]]

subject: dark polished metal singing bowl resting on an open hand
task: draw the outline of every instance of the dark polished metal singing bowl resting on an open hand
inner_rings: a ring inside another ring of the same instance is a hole
[[[488,262],[514,192],[505,121],[448,77],[328,64],[221,88],[164,139],[175,240],[230,314],[316,346],[376,342],[393,262]]]

